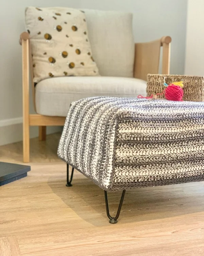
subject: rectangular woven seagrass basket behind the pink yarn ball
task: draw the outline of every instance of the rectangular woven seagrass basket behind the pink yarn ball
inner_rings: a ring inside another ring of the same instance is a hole
[[[201,76],[187,75],[147,75],[147,96],[151,94],[162,93],[166,88],[164,83],[184,82],[183,100],[188,101],[204,101],[204,78]],[[158,96],[164,99],[164,95]]]

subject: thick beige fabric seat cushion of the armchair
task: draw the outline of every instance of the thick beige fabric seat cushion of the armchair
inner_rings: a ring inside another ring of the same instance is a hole
[[[72,101],[94,96],[146,96],[146,84],[128,77],[53,77],[36,85],[36,110],[41,115],[67,116]]]

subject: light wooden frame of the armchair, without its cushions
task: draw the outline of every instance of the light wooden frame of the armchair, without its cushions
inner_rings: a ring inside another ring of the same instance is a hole
[[[134,77],[146,80],[147,74],[158,74],[160,47],[163,47],[162,74],[169,74],[170,37],[156,41],[135,44]],[[29,112],[29,81],[33,80],[30,37],[27,32],[20,35],[22,45],[22,93],[23,93],[23,162],[30,161],[30,126],[39,126],[39,140],[46,140],[46,126],[63,126],[65,117],[43,116]],[[35,107],[35,87],[32,82],[33,104]]]

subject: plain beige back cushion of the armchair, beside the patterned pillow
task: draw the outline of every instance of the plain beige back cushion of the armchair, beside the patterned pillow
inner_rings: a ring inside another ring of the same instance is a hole
[[[132,14],[83,10],[93,57],[100,75],[133,77],[135,50]]]

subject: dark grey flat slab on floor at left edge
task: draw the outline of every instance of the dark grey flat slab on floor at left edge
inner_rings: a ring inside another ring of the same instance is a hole
[[[30,170],[28,165],[0,162],[0,186],[26,177]]]

